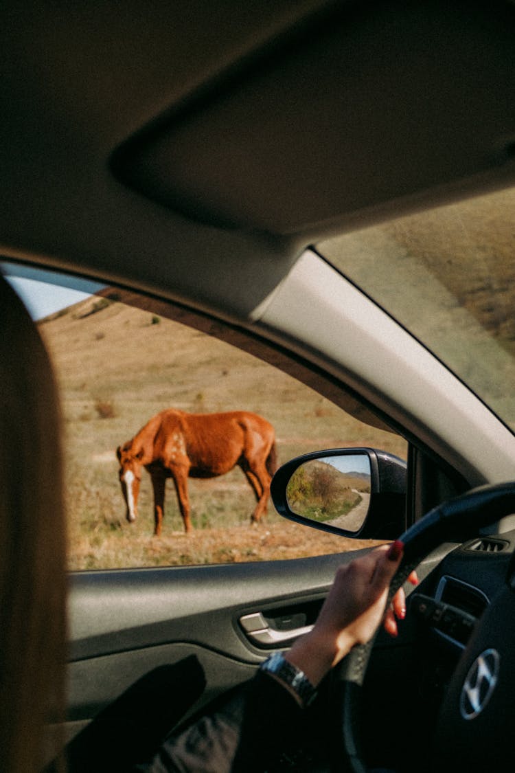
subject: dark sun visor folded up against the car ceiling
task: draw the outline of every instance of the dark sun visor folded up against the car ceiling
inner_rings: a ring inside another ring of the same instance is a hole
[[[202,223],[280,235],[461,187],[512,160],[513,32],[481,4],[345,7],[161,117],[114,169]]]

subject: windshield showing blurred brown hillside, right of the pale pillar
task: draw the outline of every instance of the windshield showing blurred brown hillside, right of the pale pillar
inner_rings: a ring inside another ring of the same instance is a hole
[[[317,244],[515,429],[515,189]]]

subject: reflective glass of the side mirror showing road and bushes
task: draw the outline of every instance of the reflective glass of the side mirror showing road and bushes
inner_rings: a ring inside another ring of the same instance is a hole
[[[368,514],[370,492],[370,459],[357,453],[300,465],[288,482],[286,498],[297,516],[358,532]]]

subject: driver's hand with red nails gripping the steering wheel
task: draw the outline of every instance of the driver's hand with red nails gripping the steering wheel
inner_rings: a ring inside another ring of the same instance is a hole
[[[385,614],[388,588],[401,563],[402,543],[372,550],[337,570],[334,583],[313,630],[297,639],[285,657],[300,668],[313,686],[336,666],[355,644],[368,642],[384,619],[385,629],[397,635],[396,618],[405,617],[405,594],[395,594]],[[408,577],[417,584],[415,572]]]

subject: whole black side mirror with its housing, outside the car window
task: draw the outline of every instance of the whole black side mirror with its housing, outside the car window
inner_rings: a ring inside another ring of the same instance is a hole
[[[386,451],[298,456],[277,470],[270,492],[281,516],[316,529],[374,540],[405,530],[406,462]]]

